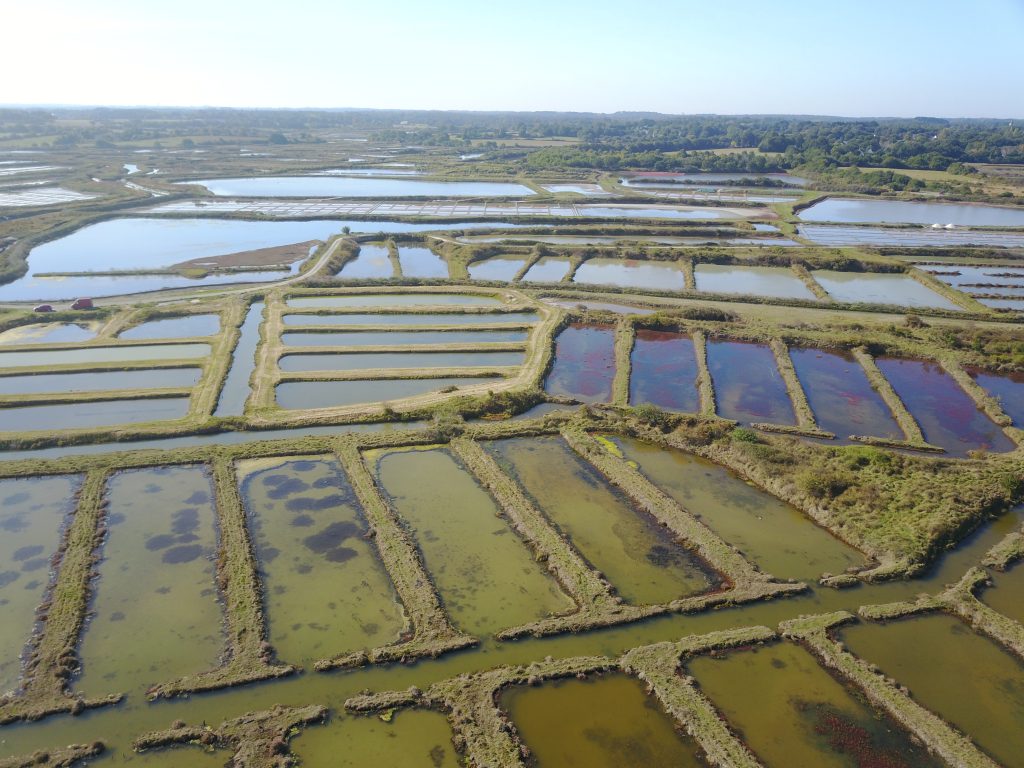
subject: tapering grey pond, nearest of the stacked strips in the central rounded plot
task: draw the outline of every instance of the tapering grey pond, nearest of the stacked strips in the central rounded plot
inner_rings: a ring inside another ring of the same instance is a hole
[[[361,379],[356,381],[288,381],[278,385],[284,409],[333,408],[360,402],[387,402],[402,397],[500,381],[494,377],[447,379]]]

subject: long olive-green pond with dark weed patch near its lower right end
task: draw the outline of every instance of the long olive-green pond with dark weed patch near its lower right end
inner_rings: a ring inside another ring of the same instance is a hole
[[[561,439],[497,440],[487,450],[626,600],[662,603],[716,584],[686,548]]]

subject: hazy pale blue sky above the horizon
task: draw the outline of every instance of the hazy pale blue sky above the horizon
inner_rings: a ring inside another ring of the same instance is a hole
[[[1024,0],[0,0],[3,103],[1024,118]]]

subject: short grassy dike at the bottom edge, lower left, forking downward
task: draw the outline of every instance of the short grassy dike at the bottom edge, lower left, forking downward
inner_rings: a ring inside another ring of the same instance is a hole
[[[227,720],[216,728],[206,724],[189,726],[178,721],[170,728],[155,731],[135,739],[136,752],[148,752],[168,746],[195,745],[204,750],[228,750],[230,765],[239,768],[283,768],[294,765],[289,740],[301,728],[323,723],[328,709],[276,706],[263,712],[250,712]]]

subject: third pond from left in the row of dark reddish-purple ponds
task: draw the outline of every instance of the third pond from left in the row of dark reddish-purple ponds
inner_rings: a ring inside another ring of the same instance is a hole
[[[742,423],[796,424],[775,355],[764,344],[708,341],[718,415]]]

